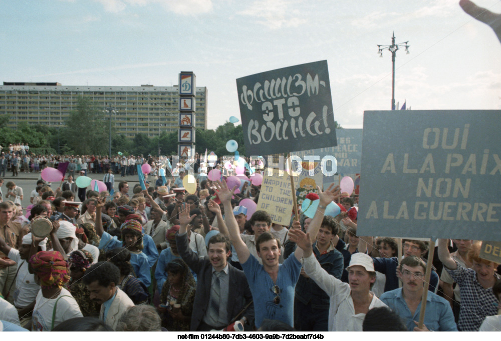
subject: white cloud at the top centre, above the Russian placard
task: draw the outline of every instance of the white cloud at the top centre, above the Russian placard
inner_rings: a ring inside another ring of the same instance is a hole
[[[256,0],[237,14],[259,18],[256,22],[269,28],[297,27],[307,22],[301,12],[292,7],[296,1]]]

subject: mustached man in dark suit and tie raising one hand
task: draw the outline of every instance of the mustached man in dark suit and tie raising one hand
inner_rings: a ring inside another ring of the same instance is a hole
[[[231,254],[228,237],[222,234],[212,236],[208,242],[208,255],[199,258],[188,246],[187,227],[193,217],[190,217],[187,209],[184,209],[179,214],[181,227],[176,233],[179,254],[197,274],[193,303],[196,309],[193,309],[191,314],[190,330],[220,330],[233,320],[240,320],[242,324],[247,323],[252,326],[254,324],[252,293],[243,271],[227,262]]]

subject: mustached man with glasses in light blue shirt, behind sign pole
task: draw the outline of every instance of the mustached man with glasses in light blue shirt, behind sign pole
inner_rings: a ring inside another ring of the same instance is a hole
[[[402,287],[386,291],[380,299],[402,318],[409,331],[457,331],[449,302],[433,292],[428,292],[423,327],[418,327],[425,271],[421,258],[411,255],[402,259],[397,270]]]

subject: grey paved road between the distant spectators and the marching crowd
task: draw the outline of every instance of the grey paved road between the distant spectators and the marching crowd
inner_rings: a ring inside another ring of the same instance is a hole
[[[2,185],[2,193],[4,193],[4,196],[7,194],[7,182],[9,181],[14,181],[16,185],[20,186],[23,188],[23,207],[26,207],[30,204],[30,194],[32,190],[34,190],[37,187],[37,180],[40,179],[40,173],[25,173],[25,172],[19,172],[18,176],[12,176],[12,172],[6,172],[6,175],[4,177],[4,184]],[[89,176],[92,179],[96,180],[103,180],[104,174],[93,174],[93,173],[87,173],[87,176]],[[120,174],[115,174],[115,190],[118,190],[118,182],[126,180],[129,183],[137,183],[139,182],[139,179],[136,175],[132,176],[124,176],[121,177]],[[149,179],[151,181],[151,178]],[[153,180],[154,183],[154,180]],[[51,187],[56,190],[57,187],[59,187],[60,183],[52,183]],[[133,185],[130,186],[130,192],[129,194],[132,193],[132,187]],[[90,187],[89,187],[90,189]],[[78,197],[75,198],[75,201],[80,201]]]

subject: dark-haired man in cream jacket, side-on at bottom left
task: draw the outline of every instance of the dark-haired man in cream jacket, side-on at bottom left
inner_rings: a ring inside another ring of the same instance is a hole
[[[134,306],[129,296],[117,286],[120,270],[109,261],[100,261],[85,271],[82,280],[90,291],[90,298],[101,304],[99,318],[115,330],[125,310]]]

